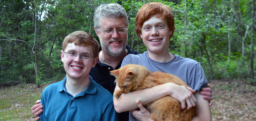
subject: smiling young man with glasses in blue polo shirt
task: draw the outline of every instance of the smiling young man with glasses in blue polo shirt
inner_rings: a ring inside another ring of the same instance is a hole
[[[98,61],[97,40],[85,31],[75,31],[65,37],[62,47],[66,77],[44,89],[40,120],[117,120],[112,94],[89,76]]]

